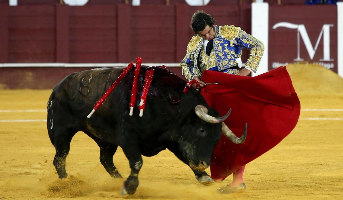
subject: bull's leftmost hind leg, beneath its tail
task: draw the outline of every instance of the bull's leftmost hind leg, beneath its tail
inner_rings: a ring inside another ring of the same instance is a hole
[[[54,158],[54,166],[56,168],[58,178],[66,178],[66,158],[69,154],[70,149],[70,142],[75,133],[77,132],[75,129],[49,129],[49,137],[51,140],[52,145],[54,145],[56,149],[56,154]]]

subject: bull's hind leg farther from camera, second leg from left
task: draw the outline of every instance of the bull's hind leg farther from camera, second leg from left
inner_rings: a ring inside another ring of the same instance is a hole
[[[93,139],[100,147],[100,162],[104,166],[105,170],[111,177],[122,178],[116,166],[113,164],[113,155],[116,153],[118,146],[102,142],[98,138]]]

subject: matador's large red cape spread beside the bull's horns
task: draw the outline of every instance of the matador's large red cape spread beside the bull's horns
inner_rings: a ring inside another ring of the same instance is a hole
[[[211,176],[224,180],[241,166],[267,152],[285,138],[298,122],[300,102],[286,67],[255,77],[204,71],[201,91],[210,107],[221,116],[232,108],[225,124],[240,137],[248,122],[246,141],[236,145],[224,135],[211,160]]]

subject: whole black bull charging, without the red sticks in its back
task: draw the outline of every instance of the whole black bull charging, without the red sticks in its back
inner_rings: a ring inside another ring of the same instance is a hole
[[[122,195],[133,194],[138,187],[138,173],[143,164],[141,155],[150,157],[165,149],[190,166],[199,182],[213,181],[204,170],[210,165],[222,129],[226,129],[225,135],[235,143],[242,143],[245,134],[237,138],[228,131],[222,123],[228,114],[220,117],[196,89],[190,88],[185,94],[186,82],[180,77],[162,67],[152,68],[155,73],[142,117],[138,105],[146,66],[140,70],[132,116],[129,116],[129,102],[133,68],[91,118],[87,118],[88,113],[123,67],[75,72],[56,85],[47,103],[47,128],[56,148],[54,165],[59,178],[67,177],[70,142],[76,132],[82,131],[100,147],[100,162],[112,177],[122,177],[113,164],[117,147],[122,148],[131,168]]]

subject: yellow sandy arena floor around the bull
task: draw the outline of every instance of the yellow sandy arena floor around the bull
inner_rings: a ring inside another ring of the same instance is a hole
[[[232,176],[213,186],[200,185],[190,168],[166,150],[143,157],[140,185],[125,199],[343,199],[343,79],[317,65],[289,65],[287,70],[301,102],[299,122],[279,145],[247,164],[246,192],[215,192]],[[42,121],[50,93],[0,90],[0,199],[123,198],[123,179],[108,175],[98,146],[81,132],[71,142],[69,176],[58,179],[52,164],[55,149]],[[130,168],[120,148],[114,161],[126,178]]]

